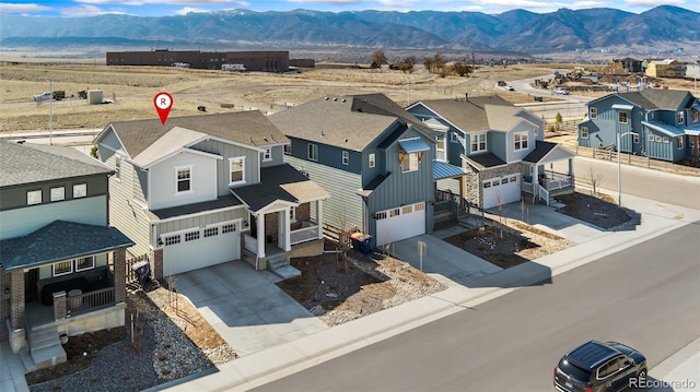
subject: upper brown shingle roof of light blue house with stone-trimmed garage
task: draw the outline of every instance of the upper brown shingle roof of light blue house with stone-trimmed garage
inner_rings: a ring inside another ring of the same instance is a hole
[[[513,104],[498,95],[476,96],[469,97],[468,99],[421,100],[410,107],[416,105],[425,106],[428,109],[465,132],[486,131],[490,129],[489,118],[485,110],[487,105],[514,107]]]

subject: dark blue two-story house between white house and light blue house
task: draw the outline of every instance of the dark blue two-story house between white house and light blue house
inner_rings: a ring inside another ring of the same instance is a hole
[[[434,134],[387,96],[326,96],[270,120],[291,140],[285,161],[330,193],[328,226],[369,234],[371,246],[432,231]]]

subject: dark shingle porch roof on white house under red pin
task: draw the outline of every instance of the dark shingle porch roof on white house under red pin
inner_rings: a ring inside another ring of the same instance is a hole
[[[264,167],[259,183],[231,191],[254,212],[278,200],[300,203],[328,198],[328,192],[288,164]]]

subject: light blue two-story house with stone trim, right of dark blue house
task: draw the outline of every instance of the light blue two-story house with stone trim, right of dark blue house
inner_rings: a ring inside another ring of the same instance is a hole
[[[444,153],[438,161],[469,169],[462,193],[482,209],[513,203],[522,192],[549,203],[558,193],[573,191],[573,157],[568,149],[545,141],[545,121],[498,96],[421,100],[407,108],[435,132]],[[553,164],[564,162],[563,173]],[[453,179],[438,189],[457,192]]]

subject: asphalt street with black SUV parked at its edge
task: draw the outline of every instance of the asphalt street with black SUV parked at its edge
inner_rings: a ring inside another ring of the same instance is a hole
[[[262,385],[257,391],[548,391],[588,340],[649,367],[700,337],[698,222]]]

